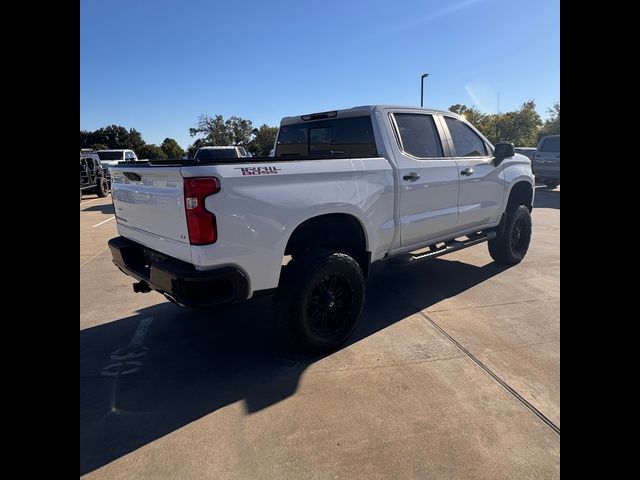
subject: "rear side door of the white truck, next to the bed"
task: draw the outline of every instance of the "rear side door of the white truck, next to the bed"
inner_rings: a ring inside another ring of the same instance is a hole
[[[388,111],[399,173],[400,244],[449,235],[458,221],[458,166],[445,156],[441,128],[424,111]]]

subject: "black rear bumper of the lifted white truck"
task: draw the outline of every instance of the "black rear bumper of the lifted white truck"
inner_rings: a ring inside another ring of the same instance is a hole
[[[125,237],[109,240],[113,263],[125,274],[148,284],[180,305],[210,307],[244,300],[246,275],[235,267],[196,270],[187,262],[147,248]]]

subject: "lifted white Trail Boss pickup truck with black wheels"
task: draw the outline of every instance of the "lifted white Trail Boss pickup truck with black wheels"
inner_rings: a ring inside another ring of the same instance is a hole
[[[318,353],[354,330],[371,263],[488,241],[495,261],[516,264],[529,247],[530,160],[454,113],[286,117],[274,154],[111,167],[109,247],[134,291],[192,307],[273,293],[285,338]]]

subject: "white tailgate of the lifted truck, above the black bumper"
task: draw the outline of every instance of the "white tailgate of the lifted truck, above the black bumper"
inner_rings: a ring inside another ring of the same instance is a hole
[[[191,260],[180,167],[111,167],[119,233],[149,248]]]

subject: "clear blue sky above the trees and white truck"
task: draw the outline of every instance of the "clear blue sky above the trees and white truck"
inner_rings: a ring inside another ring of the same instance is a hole
[[[559,0],[81,0],[80,128],[187,147],[198,115],[560,99]]]

